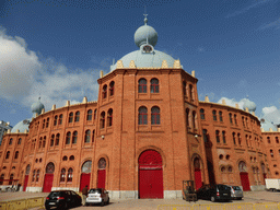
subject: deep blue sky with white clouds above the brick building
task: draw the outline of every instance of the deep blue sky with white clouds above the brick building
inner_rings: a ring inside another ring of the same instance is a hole
[[[258,117],[280,118],[280,0],[2,0],[0,120],[31,118],[38,96],[46,110],[97,100],[100,70],[138,49],[144,5],[155,49],[196,71],[200,100],[248,95]]]

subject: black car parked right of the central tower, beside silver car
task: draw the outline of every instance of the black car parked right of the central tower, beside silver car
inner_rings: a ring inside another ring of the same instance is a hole
[[[231,200],[231,188],[228,185],[205,185],[197,191],[198,199],[211,200]]]

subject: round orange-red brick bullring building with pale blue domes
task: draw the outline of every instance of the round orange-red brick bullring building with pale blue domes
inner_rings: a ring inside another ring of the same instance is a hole
[[[135,34],[139,50],[101,73],[98,101],[45,112],[20,121],[0,147],[0,184],[19,179],[24,191],[104,187],[110,197],[177,198],[182,180],[264,188],[278,164],[254,114],[198,101],[197,79],[179,60],[154,49],[147,24]],[[279,141],[278,141],[279,143]],[[280,149],[280,148],[279,148]],[[280,153],[280,152],[279,152]]]

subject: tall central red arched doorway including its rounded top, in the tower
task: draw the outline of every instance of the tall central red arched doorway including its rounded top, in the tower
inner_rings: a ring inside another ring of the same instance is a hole
[[[139,164],[139,198],[163,198],[162,156],[154,150],[142,152]]]

